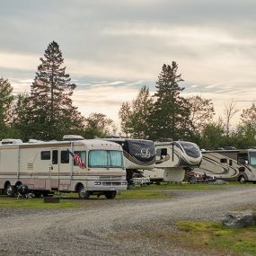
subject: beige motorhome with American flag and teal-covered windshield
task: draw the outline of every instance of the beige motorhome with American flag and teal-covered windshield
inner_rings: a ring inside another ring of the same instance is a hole
[[[83,168],[72,153],[83,160]],[[27,185],[36,197],[58,190],[76,191],[80,199],[93,194],[114,199],[118,190],[127,190],[122,148],[95,139],[33,143],[2,140],[0,189],[13,197],[20,184]]]

